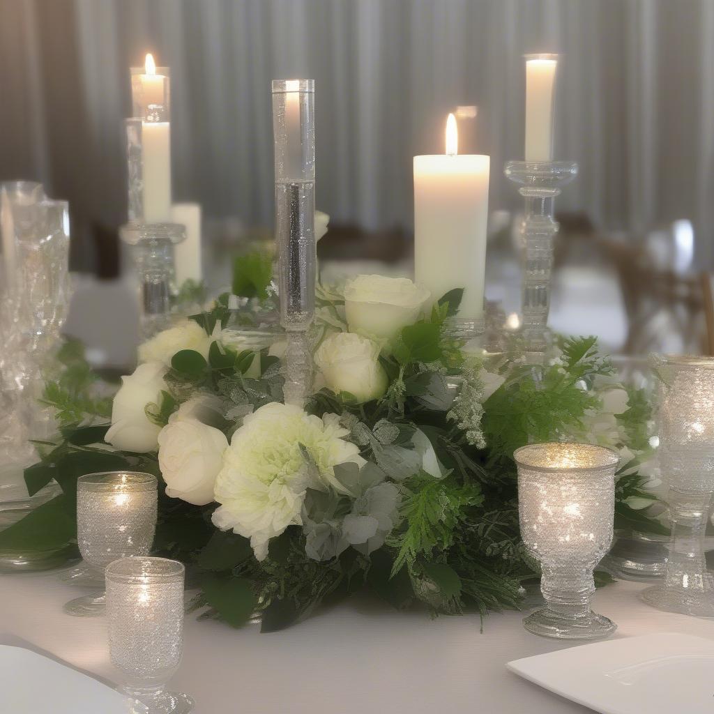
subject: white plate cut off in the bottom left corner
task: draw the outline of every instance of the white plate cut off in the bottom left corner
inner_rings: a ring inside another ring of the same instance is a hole
[[[6,714],[126,714],[126,698],[86,674],[21,647],[0,645]]]

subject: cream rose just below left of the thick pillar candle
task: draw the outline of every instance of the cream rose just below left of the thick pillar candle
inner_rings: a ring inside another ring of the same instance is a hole
[[[361,275],[345,286],[345,315],[350,332],[392,341],[415,323],[431,293],[408,278]]]

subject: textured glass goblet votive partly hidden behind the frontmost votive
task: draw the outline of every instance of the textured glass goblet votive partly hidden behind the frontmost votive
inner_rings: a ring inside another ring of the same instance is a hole
[[[156,476],[136,471],[89,473],[77,479],[77,541],[82,558],[104,582],[112,560],[149,555],[154,543]],[[103,615],[104,593],[64,606],[69,615]]]

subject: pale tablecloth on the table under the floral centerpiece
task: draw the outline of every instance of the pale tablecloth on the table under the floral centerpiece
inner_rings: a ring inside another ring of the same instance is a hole
[[[678,631],[714,640],[714,622],[648,608],[636,598],[641,587],[617,583],[595,595],[595,609],[619,625],[615,637]],[[26,646],[115,683],[104,619],[62,612],[79,594],[56,572],[0,576],[0,644]],[[256,626],[233,630],[188,615],[183,663],[171,685],[196,699],[196,714],[587,712],[506,670],[509,660],[573,646],[526,633],[522,616],[491,615],[481,634],[476,615],[432,620],[358,599],[261,635]],[[99,713],[78,705],[77,714]]]

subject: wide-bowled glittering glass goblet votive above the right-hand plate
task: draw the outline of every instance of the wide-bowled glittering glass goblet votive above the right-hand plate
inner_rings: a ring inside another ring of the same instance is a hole
[[[593,569],[613,540],[618,456],[602,446],[543,443],[513,454],[521,537],[540,561],[545,608],[523,620],[529,632],[565,640],[605,637],[617,625],[593,613]]]

